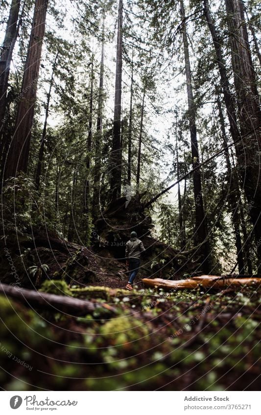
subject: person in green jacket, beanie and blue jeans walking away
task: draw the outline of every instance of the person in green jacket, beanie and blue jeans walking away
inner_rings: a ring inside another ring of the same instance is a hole
[[[141,263],[141,253],[145,251],[143,243],[137,238],[136,232],[131,233],[131,239],[126,243],[126,265],[129,266],[129,282],[126,285],[128,290],[133,290],[133,281],[138,274],[140,263]]]

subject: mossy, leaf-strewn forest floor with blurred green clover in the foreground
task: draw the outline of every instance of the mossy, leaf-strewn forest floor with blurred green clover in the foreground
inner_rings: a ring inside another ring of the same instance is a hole
[[[95,302],[82,317],[0,296],[6,390],[258,390],[260,292],[166,293],[48,282],[47,292]],[[108,305],[110,307],[108,307]],[[14,313],[15,310],[15,313]]]

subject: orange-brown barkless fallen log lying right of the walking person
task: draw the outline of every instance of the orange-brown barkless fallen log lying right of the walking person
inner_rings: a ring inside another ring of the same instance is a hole
[[[161,278],[143,278],[142,283],[147,287],[171,289],[194,289],[199,286],[205,288],[241,288],[243,286],[261,285],[261,278],[223,278],[215,275],[202,275],[186,280],[163,280]]]

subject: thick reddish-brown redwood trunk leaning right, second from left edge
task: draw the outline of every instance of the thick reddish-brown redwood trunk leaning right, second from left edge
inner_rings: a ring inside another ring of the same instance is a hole
[[[27,50],[22,91],[4,177],[27,172],[48,0],[36,0]]]

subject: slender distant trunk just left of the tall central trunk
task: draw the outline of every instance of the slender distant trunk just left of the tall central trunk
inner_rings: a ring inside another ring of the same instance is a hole
[[[104,76],[104,24],[102,21],[101,60],[99,74],[99,95],[97,109],[97,129],[95,134],[95,165],[94,165],[94,194],[93,194],[93,222],[99,217],[100,169],[101,169],[101,137],[102,137],[102,106],[103,106],[103,76]]]

